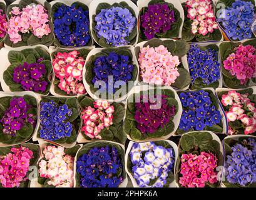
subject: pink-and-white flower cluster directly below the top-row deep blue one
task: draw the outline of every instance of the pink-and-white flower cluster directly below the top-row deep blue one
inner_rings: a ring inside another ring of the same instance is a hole
[[[53,59],[53,70],[59,79],[58,87],[67,94],[86,93],[83,85],[83,66],[85,60],[79,57],[78,51],[58,52]]]

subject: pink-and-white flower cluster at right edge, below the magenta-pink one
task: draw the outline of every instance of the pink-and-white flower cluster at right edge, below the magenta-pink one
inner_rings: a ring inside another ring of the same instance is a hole
[[[228,91],[222,95],[222,105],[228,108],[226,116],[228,122],[240,121],[243,124],[244,133],[252,134],[256,132],[256,106],[248,98],[248,94],[240,94],[236,91]],[[235,134],[228,126],[228,134]]]

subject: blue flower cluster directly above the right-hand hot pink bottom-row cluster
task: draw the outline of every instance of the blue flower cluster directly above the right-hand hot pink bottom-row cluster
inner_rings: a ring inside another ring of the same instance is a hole
[[[220,123],[222,115],[212,106],[209,93],[203,90],[180,93],[183,113],[180,129],[183,131],[202,131],[205,126],[212,127]]]

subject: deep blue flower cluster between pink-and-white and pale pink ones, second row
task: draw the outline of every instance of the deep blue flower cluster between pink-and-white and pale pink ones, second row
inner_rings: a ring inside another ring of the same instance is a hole
[[[104,81],[105,86],[102,86],[103,91],[108,91],[108,93],[113,93],[109,87],[109,78],[113,76],[113,84],[116,81],[123,81],[123,84],[128,83],[133,78],[134,66],[130,62],[129,56],[124,56],[111,52],[108,56],[99,56],[96,58],[94,63],[95,68],[93,72],[95,77],[93,78],[93,84],[96,81]]]

